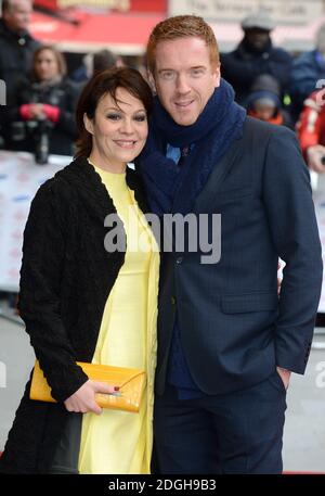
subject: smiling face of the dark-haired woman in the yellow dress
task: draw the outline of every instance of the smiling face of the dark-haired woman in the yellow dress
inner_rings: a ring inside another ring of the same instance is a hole
[[[116,102],[109,93],[103,96],[94,118],[84,116],[84,125],[92,135],[91,156],[99,166],[132,162],[148,132],[144,104],[123,88],[117,88]]]

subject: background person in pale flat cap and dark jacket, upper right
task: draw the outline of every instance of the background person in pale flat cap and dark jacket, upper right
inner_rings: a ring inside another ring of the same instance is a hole
[[[263,13],[245,17],[242,22],[243,40],[234,51],[221,54],[223,77],[233,86],[240,104],[245,104],[252,82],[261,74],[277,79],[281,98],[287,88],[291,55],[273,46],[270,36],[273,27],[272,20]]]

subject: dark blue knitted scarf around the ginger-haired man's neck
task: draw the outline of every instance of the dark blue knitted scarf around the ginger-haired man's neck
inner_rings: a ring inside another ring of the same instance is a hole
[[[246,111],[234,102],[234,90],[224,79],[191,126],[177,124],[155,97],[150,136],[138,161],[155,214],[192,211],[211,170],[240,135],[245,117]],[[166,157],[168,143],[176,148],[194,144],[182,167]]]

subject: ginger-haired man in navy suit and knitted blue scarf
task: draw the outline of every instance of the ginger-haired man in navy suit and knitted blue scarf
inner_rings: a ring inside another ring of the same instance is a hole
[[[203,18],[159,23],[147,61],[157,97],[138,167],[152,209],[164,228],[170,214],[208,217],[208,239],[221,214],[220,259],[192,250],[196,232],[161,253],[159,470],[281,473],[286,390],[304,372],[322,283],[308,169],[290,130],[234,102]]]

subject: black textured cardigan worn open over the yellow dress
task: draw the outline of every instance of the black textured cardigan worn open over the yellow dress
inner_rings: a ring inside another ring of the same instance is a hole
[[[127,183],[146,212],[138,174]],[[78,361],[91,361],[104,306],[125,259],[108,253],[107,214],[116,213],[101,177],[80,157],[38,190],[24,232],[18,308],[57,404],[29,399],[30,383],[17,409],[0,472],[44,473],[68,412],[63,400],[87,376]],[[121,227],[121,234],[126,234]]]

